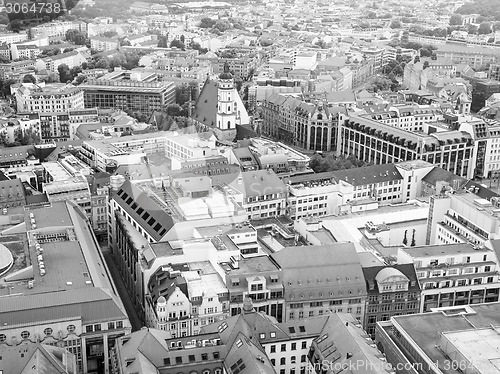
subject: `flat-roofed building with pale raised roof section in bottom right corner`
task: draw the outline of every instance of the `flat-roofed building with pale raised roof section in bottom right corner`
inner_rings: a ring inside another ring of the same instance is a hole
[[[499,311],[492,303],[392,317],[377,324],[377,346],[402,374],[494,371]]]

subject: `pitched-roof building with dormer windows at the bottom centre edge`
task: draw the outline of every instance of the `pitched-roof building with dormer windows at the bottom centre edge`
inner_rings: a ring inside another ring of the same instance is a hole
[[[242,314],[206,326],[200,335],[169,339],[164,331],[142,329],[121,338],[112,351],[112,373],[146,374],[145,362],[148,369],[162,372],[189,366],[203,374],[319,373],[328,347],[341,367],[366,362],[367,373],[382,374],[384,369],[378,368],[384,367],[383,355],[365,337],[349,314],[276,323],[247,302]],[[334,373],[335,367],[327,365],[323,372]]]

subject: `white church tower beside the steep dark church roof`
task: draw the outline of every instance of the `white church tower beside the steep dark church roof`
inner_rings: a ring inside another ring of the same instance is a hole
[[[223,138],[234,139],[236,135],[236,122],[238,120],[238,106],[236,96],[238,92],[234,88],[234,79],[229,72],[229,65],[224,64],[224,71],[219,76],[217,85],[217,118],[216,127]]]

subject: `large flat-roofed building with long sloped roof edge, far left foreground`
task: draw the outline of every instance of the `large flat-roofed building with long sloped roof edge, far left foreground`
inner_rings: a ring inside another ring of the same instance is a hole
[[[0,349],[64,347],[76,358],[74,372],[109,373],[109,349],[131,326],[86,216],[57,202],[30,207],[23,220],[32,265],[5,276]]]

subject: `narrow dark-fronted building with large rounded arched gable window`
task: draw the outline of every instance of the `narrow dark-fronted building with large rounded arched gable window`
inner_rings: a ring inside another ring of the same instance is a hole
[[[363,328],[375,339],[377,322],[420,311],[420,285],[413,264],[363,266],[368,297]]]

